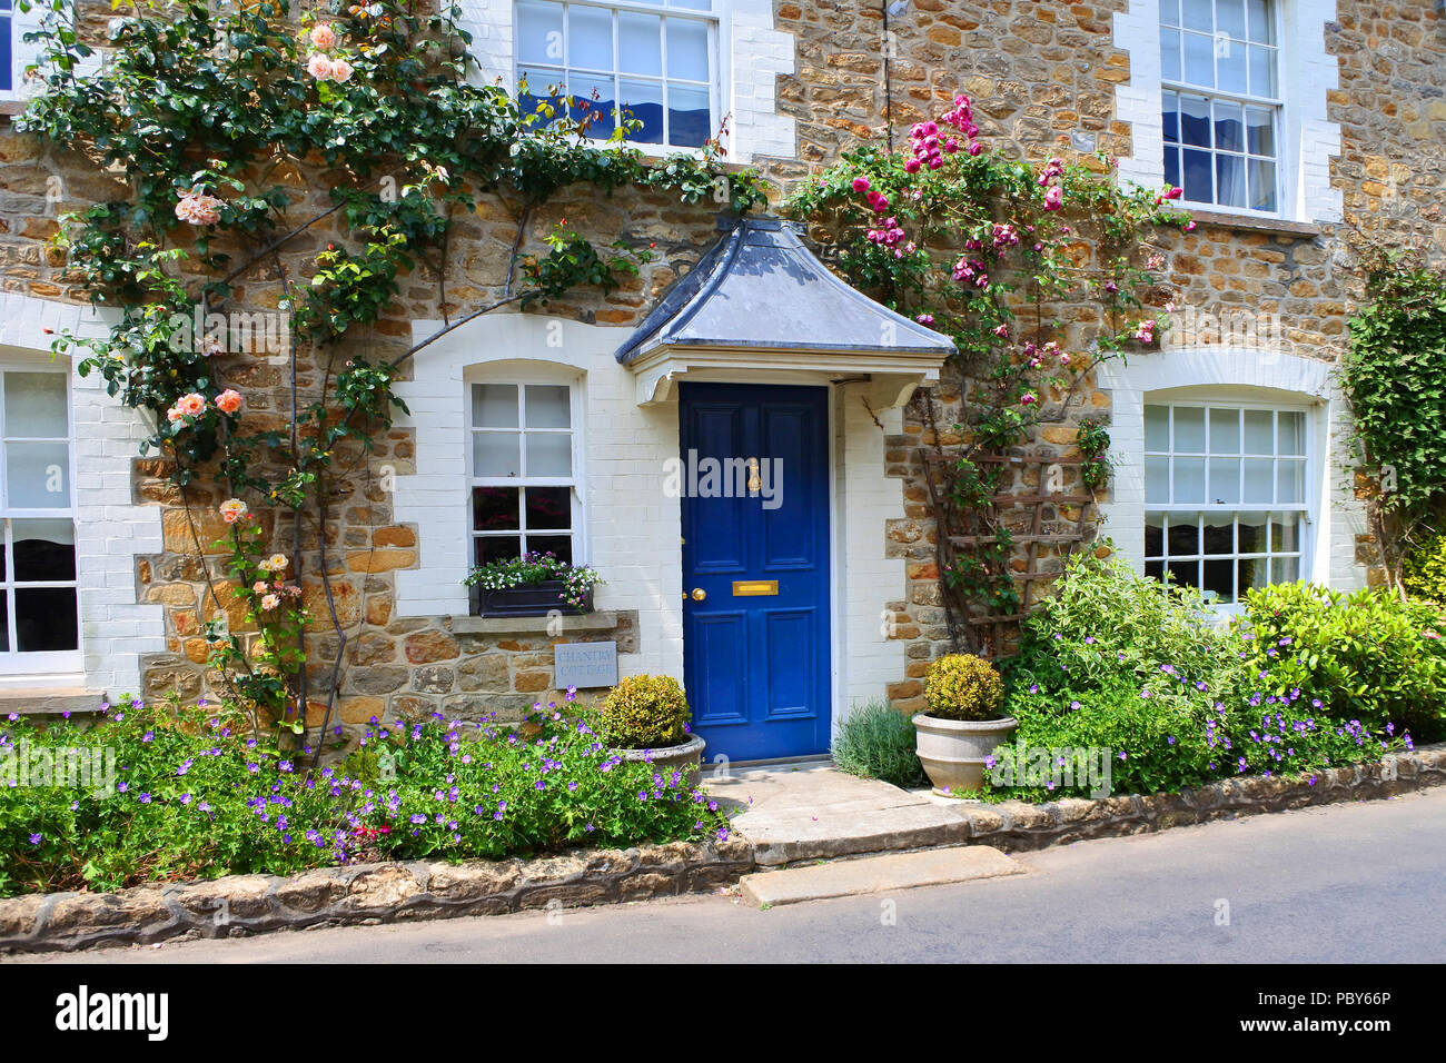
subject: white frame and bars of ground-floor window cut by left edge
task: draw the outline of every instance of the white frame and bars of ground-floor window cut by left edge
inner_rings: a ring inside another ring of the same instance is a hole
[[[9,500],[9,477],[4,474],[6,451],[12,443],[62,443],[58,437],[14,437],[9,434],[4,424],[4,377],[9,373],[56,373],[65,382],[65,447],[67,447],[67,483],[68,505],[61,509],[12,509]],[[0,651],[0,675],[56,675],[74,674],[84,668],[84,628],[80,618],[80,535],[75,528],[75,409],[71,395],[71,379],[65,367],[51,367],[49,364],[26,364],[17,362],[0,362],[0,548],[4,550],[4,579],[0,580],[0,590],[6,594],[6,625],[9,649]],[[22,652],[16,641],[16,580],[14,557],[12,550],[12,521],[69,521],[72,541],[77,544],[75,577],[71,580],[39,580],[23,581],[22,589],[32,587],[72,587],[75,590],[75,649],[52,649],[39,652]]]

